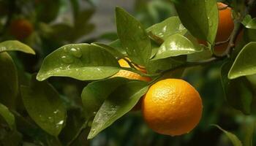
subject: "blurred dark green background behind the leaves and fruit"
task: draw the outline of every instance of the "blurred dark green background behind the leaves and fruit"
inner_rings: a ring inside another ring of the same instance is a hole
[[[21,84],[27,85],[26,79],[29,74],[38,72],[42,59],[62,45],[80,42],[108,43],[117,39],[114,18],[116,6],[127,9],[146,28],[176,15],[176,10],[169,0],[0,0],[1,42],[19,39],[37,53],[35,56],[11,53],[18,66]],[[11,23],[18,19],[31,23],[32,31],[28,37],[20,39],[12,32]],[[138,111],[124,115],[89,141],[86,140],[89,129],[86,129],[74,145],[231,145],[222,131],[211,126],[213,123],[233,132],[241,140],[245,139],[246,134],[255,131],[251,128],[255,125],[255,112],[252,115],[243,115],[227,104],[220,81],[220,67],[221,64],[211,64],[206,67],[187,69],[184,72],[184,79],[197,88],[203,99],[203,118],[189,134],[170,137],[154,133],[143,122],[141,113]],[[63,145],[66,145],[83,124],[84,118],[80,116],[83,115],[80,114],[83,113],[80,93],[89,82],[64,77],[50,78],[49,81],[59,91],[68,109],[67,124],[59,137]],[[20,114],[27,115],[23,107],[20,107],[20,111]],[[19,130],[25,133],[22,137],[25,142],[23,145],[32,145],[31,143],[47,145],[41,142],[44,139],[42,137],[46,137],[45,133],[27,128],[26,125]],[[0,140],[6,140],[4,132],[0,130]],[[46,143],[54,145],[50,141]]]

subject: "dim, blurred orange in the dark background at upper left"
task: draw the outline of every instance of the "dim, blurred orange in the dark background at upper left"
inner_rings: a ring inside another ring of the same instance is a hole
[[[17,19],[12,20],[10,24],[11,34],[17,39],[25,39],[34,31],[34,27],[29,20]]]

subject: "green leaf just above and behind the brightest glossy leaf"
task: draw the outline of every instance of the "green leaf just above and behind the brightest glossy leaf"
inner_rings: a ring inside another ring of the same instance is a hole
[[[179,20],[177,16],[173,16],[163,20],[161,23],[157,23],[154,26],[147,28],[146,31],[166,40],[173,34],[186,34],[187,29],[181,24],[181,20]]]

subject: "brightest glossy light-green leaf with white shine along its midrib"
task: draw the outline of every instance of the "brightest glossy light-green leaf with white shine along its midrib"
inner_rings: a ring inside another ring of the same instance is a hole
[[[181,36],[181,34],[173,34],[159,47],[157,54],[152,60],[192,54],[200,50],[201,48],[195,47],[189,39]]]

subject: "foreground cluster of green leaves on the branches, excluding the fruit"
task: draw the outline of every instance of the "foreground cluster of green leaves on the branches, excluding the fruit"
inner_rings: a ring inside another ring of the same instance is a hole
[[[244,25],[243,39],[232,52],[217,55],[214,53],[219,15],[216,1],[180,0],[173,1],[173,4],[178,16],[149,28],[144,28],[124,9],[116,7],[116,41],[108,45],[95,42],[59,47],[45,57],[38,74],[31,76],[18,73],[7,51],[18,50],[30,54],[34,54],[34,51],[20,42],[1,42],[0,69],[3,71],[0,78],[0,115],[5,123],[3,145],[15,145],[10,143],[13,142],[10,139],[22,139],[22,134],[29,137],[26,141],[39,145],[82,145],[80,138],[83,139],[84,135],[88,135],[88,139],[94,138],[129,112],[154,82],[166,77],[181,77],[187,67],[213,64],[214,61],[222,61],[223,64],[221,78],[228,103],[244,114],[250,114],[252,101],[255,100],[255,18],[238,15],[241,17],[236,18],[240,20],[238,24]],[[233,4],[235,2],[231,2],[230,6]],[[244,7],[235,6],[234,9],[239,9],[235,13],[244,11]],[[66,26],[59,28],[70,29]],[[76,37],[72,36],[72,31],[70,33],[61,34],[58,31],[56,34],[70,37],[70,41],[74,42]],[[198,44],[197,39],[206,40],[208,46]],[[131,68],[118,64],[118,59],[126,57],[131,60]],[[145,66],[147,74],[137,70],[135,65]],[[143,82],[112,77],[120,69],[153,80]],[[20,81],[22,77],[30,82]],[[90,82],[81,91],[83,108],[78,108],[78,117],[82,118],[76,123],[70,120],[77,116],[72,115],[74,106],[65,103],[65,99],[47,81],[49,77],[71,77]],[[23,126],[18,126],[18,123]],[[74,130],[67,134],[67,128]],[[32,136],[31,129],[36,136]],[[235,139],[234,144],[241,145],[236,136],[227,131],[225,134]],[[59,137],[68,138],[60,142]]]

